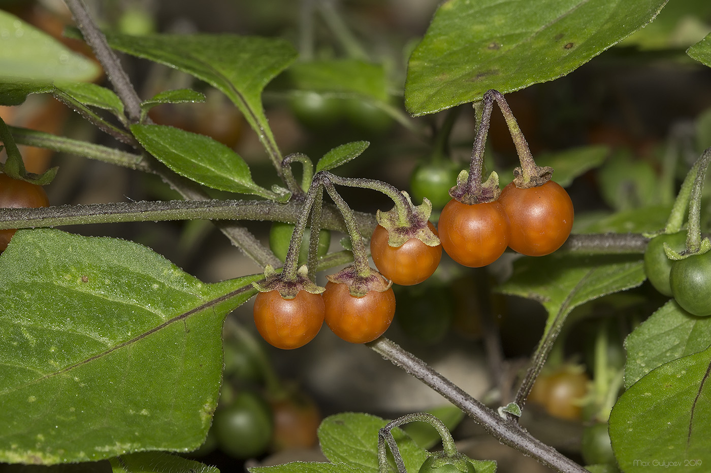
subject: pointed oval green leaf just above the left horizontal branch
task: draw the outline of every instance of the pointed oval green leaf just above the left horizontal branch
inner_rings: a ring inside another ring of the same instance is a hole
[[[237,153],[209,136],[173,126],[131,126],[131,132],[146,148],[176,173],[214,189],[260,195],[283,200],[252,180],[250,168]]]

